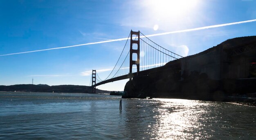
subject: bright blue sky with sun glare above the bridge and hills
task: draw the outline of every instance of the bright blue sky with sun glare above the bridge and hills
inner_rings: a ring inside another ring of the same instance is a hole
[[[255,0],[1,0],[0,55],[193,29],[256,19]],[[154,28],[155,26],[155,28]],[[157,28],[158,26],[158,28]],[[193,55],[234,37],[256,35],[256,22],[150,37]],[[0,85],[89,85],[92,69],[111,69],[125,41],[0,56]],[[106,77],[110,71],[100,72]],[[124,90],[127,80],[98,86]]]

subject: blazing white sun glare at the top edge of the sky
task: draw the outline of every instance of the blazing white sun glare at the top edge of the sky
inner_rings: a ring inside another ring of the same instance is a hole
[[[198,1],[199,0],[146,0],[143,4],[144,7],[146,7],[146,15],[154,21],[152,26],[156,31],[159,28],[155,25],[160,27],[163,23],[184,22],[187,18],[192,18],[191,13],[197,11],[199,7]]]

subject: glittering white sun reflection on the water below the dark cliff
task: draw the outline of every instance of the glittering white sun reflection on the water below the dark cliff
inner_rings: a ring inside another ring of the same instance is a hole
[[[209,138],[201,129],[205,126],[200,120],[207,110],[202,109],[207,103],[183,99],[156,99],[162,105],[154,111],[159,112],[155,116],[157,123],[153,126],[157,139],[201,139]],[[199,107],[200,106],[200,107]],[[192,132],[192,133],[191,133]]]

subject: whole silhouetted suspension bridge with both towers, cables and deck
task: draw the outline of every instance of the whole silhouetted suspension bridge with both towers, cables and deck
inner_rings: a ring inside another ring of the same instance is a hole
[[[98,85],[123,79],[131,80],[135,75],[160,72],[158,67],[180,58],[182,56],[159,46],[141,32],[131,31],[122,53],[108,77],[102,80],[97,71],[92,70],[91,92],[95,93]]]

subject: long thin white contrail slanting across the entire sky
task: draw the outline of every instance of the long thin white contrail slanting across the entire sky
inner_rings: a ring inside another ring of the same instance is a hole
[[[141,36],[140,38],[154,37],[154,36],[159,36],[159,35],[168,35],[168,34],[173,34],[173,33],[198,31],[198,30],[203,30],[203,29],[208,29],[208,28],[218,28],[218,27],[222,27],[222,26],[229,26],[229,25],[242,24],[242,23],[255,22],[255,21],[256,21],[256,19],[255,20],[246,20],[246,21],[241,21],[241,22],[232,22],[232,23],[226,23],[226,24],[204,26],[204,27],[192,28],[192,29],[186,29],[186,30],[180,30],[180,31],[171,31],[171,32],[165,32],[165,33],[157,33],[157,34],[153,34],[153,35],[145,35],[145,36]],[[79,44],[79,45],[73,45],[73,46],[65,46],[65,47],[58,47],[58,48],[48,48],[48,49],[43,49],[43,50],[32,50],[32,51],[20,52],[20,53],[9,53],[9,54],[0,55],[0,56],[18,55],[18,54],[22,54],[22,53],[33,53],[33,52],[40,52],[40,51],[45,51],[45,50],[56,50],[56,49],[61,49],[61,48],[71,48],[71,47],[78,47],[78,46],[85,46],[85,45],[92,45],[92,44],[116,42],[116,41],[127,40],[127,39],[129,39],[129,38],[112,39],[112,40],[106,40],[106,41],[101,41],[101,42],[92,42],[92,43]]]

